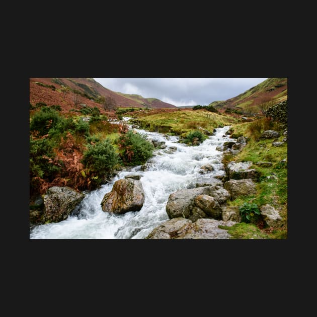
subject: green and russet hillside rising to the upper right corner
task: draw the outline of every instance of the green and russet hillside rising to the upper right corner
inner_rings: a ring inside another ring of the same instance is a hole
[[[287,99],[287,78],[268,78],[257,86],[254,86],[244,93],[227,99],[225,101],[213,101],[209,105],[217,109],[241,107],[258,109],[258,106],[270,100],[284,101]]]

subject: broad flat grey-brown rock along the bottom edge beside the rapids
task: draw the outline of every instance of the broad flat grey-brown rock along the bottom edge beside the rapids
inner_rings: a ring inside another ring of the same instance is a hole
[[[196,222],[184,218],[167,220],[153,229],[146,239],[229,239],[230,235],[218,225],[232,226],[234,221],[198,219]]]

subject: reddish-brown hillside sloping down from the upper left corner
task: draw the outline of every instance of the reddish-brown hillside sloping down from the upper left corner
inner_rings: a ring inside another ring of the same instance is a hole
[[[44,102],[48,106],[60,105],[62,112],[65,113],[74,108],[74,94],[80,96],[80,103],[86,104],[88,107],[98,107],[102,112],[102,105],[98,102],[101,96],[112,97],[117,106],[123,108],[176,108],[159,99],[113,92],[97,83],[93,78],[30,78],[30,103],[32,105],[38,102]]]

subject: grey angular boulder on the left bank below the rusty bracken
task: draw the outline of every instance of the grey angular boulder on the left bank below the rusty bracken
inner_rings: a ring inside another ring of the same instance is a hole
[[[85,195],[69,187],[50,187],[44,197],[43,222],[59,222],[65,220]]]

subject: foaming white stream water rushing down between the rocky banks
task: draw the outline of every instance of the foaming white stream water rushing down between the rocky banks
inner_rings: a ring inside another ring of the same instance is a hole
[[[146,163],[145,171],[140,166],[124,170],[108,184],[87,192],[76,215],[57,223],[33,227],[30,239],[144,239],[156,226],[169,219],[165,208],[171,193],[194,188],[196,183],[220,183],[214,178],[224,174],[222,152],[216,147],[225,141],[234,141],[227,135],[223,137],[228,129],[229,126],[216,129],[215,135],[209,136],[199,146],[177,143],[177,136],[137,129],[152,139],[165,141],[168,147],[154,151],[155,156]],[[165,152],[170,146],[176,146],[177,151]],[[206,164],[211,164],[214,171],[203,175],[199,171]],[[104,195],[111,191],[115,181],[131,173],[142,176],[140,181],[145,192],[142,209],[122,215],[104,212],[100,204]]]

